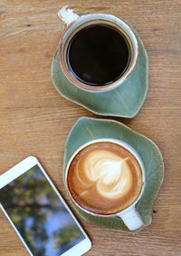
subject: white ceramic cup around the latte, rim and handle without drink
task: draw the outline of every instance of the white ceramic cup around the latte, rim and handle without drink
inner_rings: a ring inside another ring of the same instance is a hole
[[[67,184],[67,177],[68,177],[69,167],[71,165],[72,160],[77,155],[77,153],[79,153],[83,148],[85,148],[86,146],[88,146],[90,144],[102,143],[102,142],[118,144],[118,145],[124,147],[125,149],[127,149],[130,153],[132,153],[133,156],[137,159],[137,161],[138,161],[138,163],[141,167],[142,179],[143,179],[142,189],[141,189],[141,192],[138,196],[137,201],[133,202],[127,209],[125,209],[121,212],[117,212],[115,214],[109,214],[109,215],[95,214],[95,213],[90,212],[90,211],[84,209],[83,207],[81,207],[81,205],[78,204],[77,202],[75,202],[75,200],[72,198],[71,192],[70,192],[68,184]],[[94,216],[105,217],[105,218],[106,217],[112,217],[112,216],[118,216],[122,219],[122,221],[126,224],[126,226],[129,228],[130,231],[135,231],[144,224],[140,215],[139,215],[139,213],[138,213],[138,211],[135,208],[135,205],[137,204],[137,202],[139,201],[139,199],[141,198],[141,196],[144,192],[145,183],[146,183],[145,168],[144,168],[144,164],[143,164],[141,158],[139,157],[138,153],[128,143],[125,143],[123,141],[119,141],[119,140],[116,140],[116,139],[107,139],[107,138],[97,139],[97,140],[93,140],[93,141],[90,141],[89,143],[85,143],[85,144],[81,145],[81,147],[75,153],[72,154],[71,159],[67,163],[66,170],[65,170],[65,185],[66,185],[67,191],[69,192],[69,195],[71,197],[72,202],[74,202],[82,211],[87,212],[87,213],[89,213],[91,215],[94,215]]]

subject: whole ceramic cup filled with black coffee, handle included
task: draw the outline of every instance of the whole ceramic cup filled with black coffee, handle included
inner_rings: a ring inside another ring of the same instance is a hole
[[[77,15],[64,6],[66,27],[58,49],[64,77],[81,90],[101,93],[120,86],[138,62],[138,42],[129,25],[114,15]]]

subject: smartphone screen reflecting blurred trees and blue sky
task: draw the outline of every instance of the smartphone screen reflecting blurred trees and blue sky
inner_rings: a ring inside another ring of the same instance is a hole
[[[0,202],[33,255],[60,255],[85,239],[38,165],[5,185]]]

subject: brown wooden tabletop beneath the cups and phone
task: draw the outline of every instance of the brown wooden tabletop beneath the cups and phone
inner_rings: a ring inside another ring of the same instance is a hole
[[[87,255],[181,255],[179,0],[1,0],[0,173],[33,154],[69,203],[62,182],[66,136],[79,117],[97,115],[65,100],[52,85],[52,56],[63,26],[57,12],[67,4],[118,15],[138,31],[148,50],[148,97],[137,117],[113,119],[157,143],[165,162],[153,222],[137,235],[100,228],[76,214],[93,243]],[[27,255],[3,212],[0,255]]]

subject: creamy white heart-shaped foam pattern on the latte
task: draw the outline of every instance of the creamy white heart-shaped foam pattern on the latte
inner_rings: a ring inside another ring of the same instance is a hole
[[[132,175],[127,161],[127,157],[123,158],[106,150],[92,151],[83,162],[77,164],[76,173],[81,184],[84,184],[85,191],[96,183],[97,192],[102,197],[117,199],[131,188]],[[79,172],[85,173],[87,182]]]

